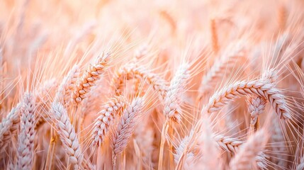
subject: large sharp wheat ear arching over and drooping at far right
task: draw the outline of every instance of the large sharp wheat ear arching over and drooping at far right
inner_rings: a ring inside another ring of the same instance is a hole
[[[255,94],[266,98],[276,111],[279,118],[291,119],[291,114],[281,91],[276,89],[274,84],[269,84],[265,80],[238,81],[217,91],[209,100],[206,111],[213,113],[219,111],[225,104],[242,95]]]

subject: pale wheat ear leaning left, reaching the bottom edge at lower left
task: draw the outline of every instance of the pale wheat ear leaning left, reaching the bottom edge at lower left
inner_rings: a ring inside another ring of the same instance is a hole
[[[69,162],[74,164],[74,169],[80,169],[84,155],[82,154],[77,134],[67,115],[67,110],[61,103],[54,102],[52,103],[51,112],[51,118],[55,122],[63,148],[69,156]]]

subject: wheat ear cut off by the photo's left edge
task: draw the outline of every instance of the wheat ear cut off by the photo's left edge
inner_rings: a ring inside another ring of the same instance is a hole
[[[19,129],[21,105],[18,103],[15,108],[11,108],[9,115],[0,123],[0,153],[4,152],[12,135]]]

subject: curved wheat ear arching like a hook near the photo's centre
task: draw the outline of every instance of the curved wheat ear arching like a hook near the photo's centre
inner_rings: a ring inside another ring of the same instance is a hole
[[[123,86],[125,86],[125,81],[130,79],[146,79],[153,89],[159,93],[159,96],[164,97],[167,91],[167,83],[164,79],[159,77],[153,72],[149,72],[147,69],[135,64],[128,64],[120,67],[118,72],[114,74],[111,86],[115,91],[116,95],[122,94]]]

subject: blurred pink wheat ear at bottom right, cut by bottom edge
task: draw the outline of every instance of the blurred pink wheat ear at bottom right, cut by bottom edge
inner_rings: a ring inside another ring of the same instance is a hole
[[[250,136],[230,161],[230,169],[252,169],[257,160],[256,157],[265,147],[267,140],[268,134],[264,130],[259,130]]]

